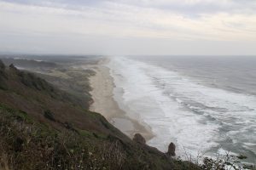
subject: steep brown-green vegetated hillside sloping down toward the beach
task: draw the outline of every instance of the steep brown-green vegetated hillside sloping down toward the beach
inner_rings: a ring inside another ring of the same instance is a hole
[[[132,141],[80,103],[31,72],[0,61],[0,169],[189,166],[149,147],[142,138]]]

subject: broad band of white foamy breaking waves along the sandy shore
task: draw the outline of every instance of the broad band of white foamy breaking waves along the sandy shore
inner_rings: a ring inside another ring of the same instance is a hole
[[[178,155],[197,156],[219,148],[240,153],[256,144],[255,96],[206,87],[126,57],[112,58],[108,67],[114,99],[127,116],[151,128],[155,137],[148,144],[159,150],[174,142]]]

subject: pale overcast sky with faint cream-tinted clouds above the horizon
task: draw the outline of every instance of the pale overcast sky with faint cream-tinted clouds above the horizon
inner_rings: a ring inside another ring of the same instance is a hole
[[[0,0],[0,53],[255,55],[256,0]]]

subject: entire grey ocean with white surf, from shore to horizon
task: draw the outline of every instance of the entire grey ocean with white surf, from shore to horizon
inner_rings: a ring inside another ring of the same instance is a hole
[[[256,56],[119,56],[108,67],[119,107],[155,134],[149,145],[256,162]]]

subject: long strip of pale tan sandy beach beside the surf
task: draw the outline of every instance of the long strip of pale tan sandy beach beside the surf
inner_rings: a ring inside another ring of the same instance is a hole
[[[94,100],[90,111],[101,113],[108,122],[111,122],[113,126],[119,128],[130,138],[135,133],[141,133],[146,140],[152,139],[154,134],[150,128],[126,116],[125,111],[122,111],[113,99],[113,77],[110,76],[106,63],[108,63],[108,59],[102,59],[98,65],[93,67],[96,76],[90,77],[90,85],[93,88],[90,94]]]

